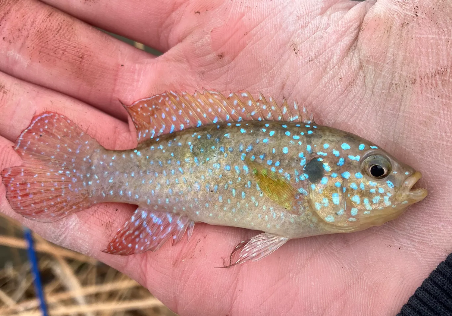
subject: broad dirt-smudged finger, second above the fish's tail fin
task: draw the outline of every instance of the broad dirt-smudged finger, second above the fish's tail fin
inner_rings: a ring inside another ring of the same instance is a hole
[[[36,0],[4,1],[0,15],[0,71],[123,119],[118,98],[149,90],[150,67],[139,64],[150,54]]]

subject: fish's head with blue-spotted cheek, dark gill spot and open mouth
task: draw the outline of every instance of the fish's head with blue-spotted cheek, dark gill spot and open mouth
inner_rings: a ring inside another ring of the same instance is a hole
[[[378,146],[350,135],[333,147],[304,168],[311,208],[331,231],[381,225],[427,196],[426,189],[413,188],[421,173]]]

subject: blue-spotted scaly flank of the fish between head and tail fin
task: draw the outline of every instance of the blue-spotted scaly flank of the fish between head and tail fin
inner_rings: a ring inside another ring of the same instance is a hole
[[[303,212],[282,208],[264,194],[249,164],[292,179],[306,195],[304,157],[311,155],[306,145],[316,148],[312,140],[319,139],[307,131],[316,129],[279,122],[223,123],[165,135],[131,151],[99,152],[93,168],[102,179],[99,202],[133,203],[212,225],[310,236],[317,216],[306,200],[300,198],[297,205]]]

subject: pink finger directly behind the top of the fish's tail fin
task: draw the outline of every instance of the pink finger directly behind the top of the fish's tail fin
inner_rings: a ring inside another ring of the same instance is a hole
[[[0,136],[15,141],[33,116],[44,111],[65,113],[77,120],[106,148],[132,148],[136,144],[127,123],[71,97],[0,72]],[[99,122],[103,122],[101,127]]]

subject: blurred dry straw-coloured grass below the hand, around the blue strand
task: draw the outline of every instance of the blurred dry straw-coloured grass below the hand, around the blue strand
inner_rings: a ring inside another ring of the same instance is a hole
[[[0,217],[0,315],[40,316],[21,226]],[[176,316],[136,281],[35,235],[49,315]],[[3,261],[3,262],[2,262]]]

